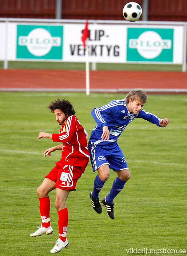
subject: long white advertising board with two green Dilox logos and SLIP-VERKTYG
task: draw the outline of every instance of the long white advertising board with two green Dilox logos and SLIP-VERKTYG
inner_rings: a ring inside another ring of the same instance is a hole
[[[88,20],[89,62],[182,64],[187,22]],[[85,20],[0,18],[0,60],[85,62]]]

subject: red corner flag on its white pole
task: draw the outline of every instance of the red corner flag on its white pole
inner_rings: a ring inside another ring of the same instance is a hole
[[[88,57],[88,38],[89,37],[89,30],[88,30],[88,20],[85,23],[85,28],[83,30],[82,41],[85,49],[85,64],[86,64],[86,95],[89,95],[89,57]]]

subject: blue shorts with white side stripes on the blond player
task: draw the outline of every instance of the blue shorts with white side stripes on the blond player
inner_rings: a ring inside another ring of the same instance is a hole
[[[103,147],[102,145],[89,142],[88,148],[93,172],[105,164],[114,171],[128,169],[126,159],[117,143],[114,146],[104,145]]]

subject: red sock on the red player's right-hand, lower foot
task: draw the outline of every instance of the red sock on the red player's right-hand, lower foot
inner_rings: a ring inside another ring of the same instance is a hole
[[[63,242],[65,242],[67,227],[68,227],[68,209],[64,208],[58,211],[58,215],[59,215],[59,238]]]

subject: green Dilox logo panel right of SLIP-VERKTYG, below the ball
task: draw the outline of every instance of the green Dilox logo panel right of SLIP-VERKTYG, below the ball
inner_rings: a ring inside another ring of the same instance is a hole
[[[174,29],[127,30],[127,61],[173,61]]]

